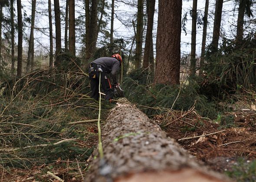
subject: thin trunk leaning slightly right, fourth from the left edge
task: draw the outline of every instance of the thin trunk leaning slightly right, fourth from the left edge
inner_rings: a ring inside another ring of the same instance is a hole
[[[31,11],[31,28],[30,28],[30,40],[29,40],[29,50],[28,50],[28,57],[27,57],[27,64],[26,64],[26,72],[32,71],[32,65],[34,65],[34,62],[32,62],[33,55],[33,49],[34,49],[34,27],[35,27],[35,14],[36,14],[36,0],[32,0],[32,11]]]

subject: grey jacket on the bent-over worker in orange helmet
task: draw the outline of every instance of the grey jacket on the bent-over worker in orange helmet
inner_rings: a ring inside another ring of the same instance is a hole
[[[116,58],[102,57],[95,59],[91,64],[102,65],[102,70],[110,74],[113,83],[117,83],[116,75],[119,70],[119,61]]]

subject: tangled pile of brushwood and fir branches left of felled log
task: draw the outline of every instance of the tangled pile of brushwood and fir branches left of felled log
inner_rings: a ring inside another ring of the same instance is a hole
[[[77,163],[82,162],[80,166],[85,169],[97,142],[93,122],[98,118],[98,102],[89,97],[89,78],[79,59],[65,56],[58,69],[1,79],[1,176],[14,176],[13,169],[42,168],[56,161],[66,161],[63,165],[67,170],[67,165],[73,165],[78,175]],[[102,106],[104,120],[110,106],[104,102]],[[38,172],[38,176],[43,175]]]

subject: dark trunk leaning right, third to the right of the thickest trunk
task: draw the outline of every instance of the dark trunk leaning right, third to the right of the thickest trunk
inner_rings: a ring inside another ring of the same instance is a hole
[[[223,0],[216,0],[215,5],[215,15],[213,23],[213,41],[212,41],[212,51],[215,52],[218,49],[218,42],[220,38],[220,23],[222,16],[222,6]]]

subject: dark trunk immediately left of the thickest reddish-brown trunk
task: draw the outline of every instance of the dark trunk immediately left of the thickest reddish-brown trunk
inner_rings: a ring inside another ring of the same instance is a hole
[[[147,33],[144,48],[143,68],[150,68],[149,71],[154,74],[154,49],[153,49],[153,23],[154,23],[155,0],[147,0]],[[153,53],[153,57],[152,57]],[[153,59],[153,60],[152,60]],[[153,65],[151,65],[153,63]]]

